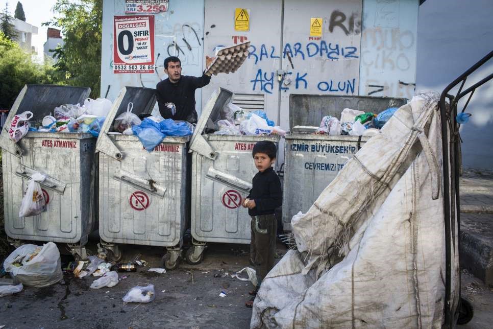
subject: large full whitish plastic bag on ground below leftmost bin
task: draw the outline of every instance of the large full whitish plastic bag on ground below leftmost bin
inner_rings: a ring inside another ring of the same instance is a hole
[[[29,287],[50,286],[63,277],[60,252],[53,242],[43,246],[20,246],[4,261],[4,268],[12,277]]]

